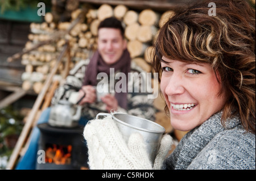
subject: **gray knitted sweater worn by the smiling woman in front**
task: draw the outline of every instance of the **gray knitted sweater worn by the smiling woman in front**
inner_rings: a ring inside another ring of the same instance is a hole
[[[188,132],[163,169],[255,169],[255,134],[234,117],[221,125],[221,112]]]

